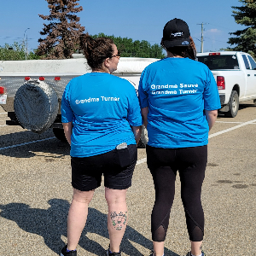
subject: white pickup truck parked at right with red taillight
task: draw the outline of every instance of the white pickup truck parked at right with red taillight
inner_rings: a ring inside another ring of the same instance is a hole
[[[197,54],[198,61],[212,71],[218,85],[227,117],[236,117],[239,102],[256,102],[256,63],[251,55],[238,51],[205,52]]]

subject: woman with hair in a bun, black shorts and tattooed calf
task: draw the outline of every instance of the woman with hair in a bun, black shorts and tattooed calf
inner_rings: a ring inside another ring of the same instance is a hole
[[[110,38],[81,37],[92,72],[72,79],[61,101],[61,116],[71,145],[73,201],[67,218],[67,245],[61,256],[76,256],[88,206],[104,175],[108,203],[108,255],[121,255],[128,212],[126,191],[137,162],[143,123],[134,87],[113,76],[119,51]],[[96,220],[100,221],[100,220]]]

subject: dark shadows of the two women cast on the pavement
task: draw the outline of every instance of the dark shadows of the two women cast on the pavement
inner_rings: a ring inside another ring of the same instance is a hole
[[[59,254],[61,248],[65,246],[61,236],[67,236],[67,212],[70,205],[68,201],[61,199],[51,199],[48,203],[50,207],[46,210],[31,208],[23,203],[0,205],[0,216],[15,221],[20,229],[26,232],[44,237],[45,244]],[[87,223],[79,241],[79,246],[84,250],[99,256],[106,255],[105,249],[97,241],[90,240],[86,236],[87,232],[108,238],[107,215],[95,208],[89,208]],[[143,255],[130,241],[152,249],[152,242],[148,238],[127,225],[121,244],[122,252],[127,255]],[[165,248],[165,255],[178,256],[167,248]]]

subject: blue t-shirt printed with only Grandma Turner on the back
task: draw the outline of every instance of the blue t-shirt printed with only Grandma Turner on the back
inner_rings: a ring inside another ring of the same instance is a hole
[[[62,123],[73,122],[70,154],[75,157],[136,144],[131,126],[143,124],[135,88],[108,73],[72,79],[62,96],[61,116]]]

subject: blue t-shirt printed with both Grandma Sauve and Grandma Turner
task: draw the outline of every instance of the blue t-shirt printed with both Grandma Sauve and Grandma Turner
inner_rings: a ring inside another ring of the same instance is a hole
[[[146,67],[138,88],[141,108],[148,107],[148,145],[187,148],[207,145],[204,109],[221,108],[209,68],[189,58],[166,58]]]

